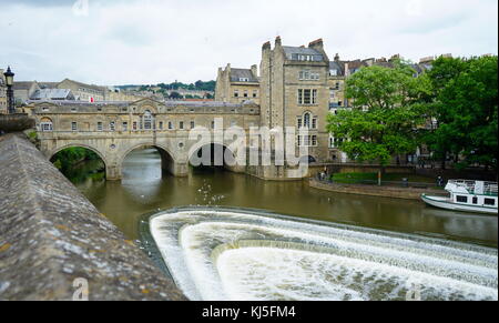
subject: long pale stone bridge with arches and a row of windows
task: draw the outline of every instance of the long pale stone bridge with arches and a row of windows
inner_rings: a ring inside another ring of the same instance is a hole
[[[105,163],[108,180],[120,180],[126,155],[145,147],[157,149],[163,170],[185,176],[190,151],[197,143],[189,140],[190,130],[204,127],[213,133],[215,119],[223,121],[223,129],[235,125],[246,133],[259,125],[259,107],[254,103],[31,101],[24,111],[37,121],[40,150],[48,159],[71,147],[89,149]],[[237,165],[230,169],[246,171]]]

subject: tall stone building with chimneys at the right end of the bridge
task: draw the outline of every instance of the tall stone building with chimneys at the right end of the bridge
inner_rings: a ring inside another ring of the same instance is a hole
[[[283,46],[279,37],[274,49],[262,47],[261,124],[268,128],[307,129],[297,134],[296,145],[307,147],[310,162],[328,160],[329,59],[323,40],[308,47]],[[287,139],[286,139],[287,140]]]

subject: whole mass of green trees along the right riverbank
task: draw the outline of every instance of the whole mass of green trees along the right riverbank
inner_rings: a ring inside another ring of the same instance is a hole
[[[354,161],[388,165],[426,148],[457,169],[497,170],[497,57],[440,58],[417,78],[409,62],[363,68],[347,80],[353,109],[328,117],[336,147]]]

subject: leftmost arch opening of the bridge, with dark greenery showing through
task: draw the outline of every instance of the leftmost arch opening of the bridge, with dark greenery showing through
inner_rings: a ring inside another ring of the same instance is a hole
[[[73,183],[88,179],[105,179],[105,159],[93,148],[84,145],[64,147],[52,153],[50,161]]]

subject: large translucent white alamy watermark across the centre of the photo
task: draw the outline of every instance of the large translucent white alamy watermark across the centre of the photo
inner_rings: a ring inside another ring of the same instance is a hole
[[[308,129],[251,127],[247,132],[236,125],[224,129],[223,118],[215,118],[212,130],[191,129],[189,141],[195,142],[189,150],[193,166],[288,166],[299,176],[308,172],[314,140]]]

